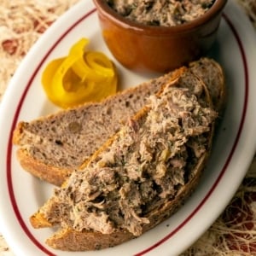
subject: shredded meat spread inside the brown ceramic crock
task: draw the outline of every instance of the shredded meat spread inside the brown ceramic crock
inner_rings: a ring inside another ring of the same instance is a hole
[[[107,0],[119,15],[152,26],[175,26],[195,20],[214,0]]]

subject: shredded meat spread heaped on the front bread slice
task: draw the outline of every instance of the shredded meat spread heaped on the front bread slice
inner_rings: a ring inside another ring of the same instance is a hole
[[[73,172],[65,188],[55,190],[62,225],[139,236],[148,214],[187,183],[189,162],[207,151],[217,114],[188,89],[172,86],[150,96],[146,108],[84,170]]]

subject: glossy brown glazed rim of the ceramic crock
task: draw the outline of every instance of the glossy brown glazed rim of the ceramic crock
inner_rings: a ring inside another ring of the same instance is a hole
[[[177,25],[177,26],[150,26],[140,24],[137,21],[129,20],[122,15],[119,15],[114,11],[107,3],[106,0],[93,0],[96,4],[96,9],[100,12],[100,15],[104,15],[105,18],[111,20],[116,26],[124,27],[125,29],[132,30],[134,32],[142,32],[148,34],[168,35],[172,33],[183,33],[195,30],[200,26],[203,26],[212,20],[215,16],[218,16],[224,9],[228,0],[215,0],[212,7],[207,10],[204,15],[191,20],[189,22]]]

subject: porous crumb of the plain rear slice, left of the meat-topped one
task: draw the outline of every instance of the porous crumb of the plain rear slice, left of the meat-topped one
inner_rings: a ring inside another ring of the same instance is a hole
[[[78,167],[142,108],[146,98],[159,90],[167,78],[153,79],[100,103],[21,122],[15,130],[14,143],[46,165]]]

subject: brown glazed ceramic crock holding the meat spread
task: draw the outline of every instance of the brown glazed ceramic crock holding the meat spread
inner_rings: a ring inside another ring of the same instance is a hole
[[[195,61],[211,48],[227,0],[215,0],[201,17],[177,26],[148,26],[116,13],[106,0],[94,0],[102,35],[113,56],[137,71],[165,73]]]

